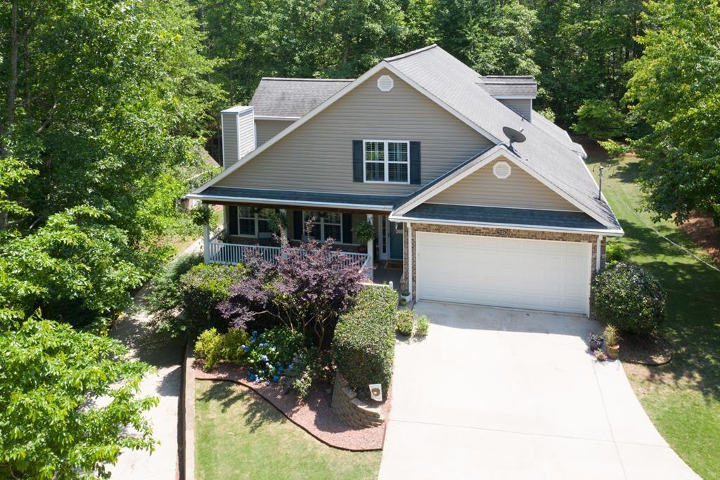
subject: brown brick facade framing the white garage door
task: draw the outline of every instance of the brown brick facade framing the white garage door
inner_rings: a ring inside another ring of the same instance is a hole
[[[595,269],[596,261],[597,261],[597,255],[598,255],[598,236],[597,235],[588,235],[588,234],[581,234],[581,233],[570,233],[570,232],[544,232],[542,230],[511,230],[511,229],[501,229],[501,228],[488,228],[488,227],[465,227],[460,225],[435,225],[435,224],[429,224],[429,223],[413,223],[412,224],[412,230],[413,230],[413,238],[412,238],[412,250],[413,250],[413,300],[416,300],[416,292],[417,289],[416,286],[416,279],[415,279],[415,272],[418,271],[417,266],[415,265],[415,257],[417,248],[415,245],[415,237],[416,232],[435,232],[435,233],[453,233],[456,235],[481,235],[484,237],[506,237],[506,238],[524,238],[527,240],[552,240],[555,242],[587,242],[592,245],[592,261],[590,263],[591,268],[593,270]],[[408,228],[407,225],[405,225],[405,228],[402,230],[402,240],[403,245],[405,245],[405,248],[403,248],[403,278],[402,281],[405,285],[408,284]],[[603,237],[602,242],[600,243],[600,268],[605,268],[605,259],[606,259],[606,253],[605,253],[605,246],[606,246],[606,237]]]

